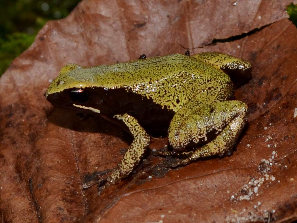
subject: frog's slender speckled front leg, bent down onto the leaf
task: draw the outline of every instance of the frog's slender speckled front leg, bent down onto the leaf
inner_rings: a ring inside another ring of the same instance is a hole
[[[138,121],[134,117],[128,114],[115,115],[114,117],[122,120],[125,125],[127,125],[134,137],[134,140],[121,160],[121,163],[118,165],[118,168],[111,173],[108,178],[110,183],[115,183],[132,172],[133,168],[140,162],[144,154],[145,147],[148,146],[150,142],[149,135],[138,124]]]

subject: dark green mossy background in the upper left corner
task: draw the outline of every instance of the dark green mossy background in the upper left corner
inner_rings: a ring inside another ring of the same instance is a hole
[[[0,76],[26,50],[49,20],[66,17],[80,0],[2,1],[0,7]]]

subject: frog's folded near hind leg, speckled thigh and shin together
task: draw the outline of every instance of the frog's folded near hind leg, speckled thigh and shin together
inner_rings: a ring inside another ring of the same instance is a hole
[[[174,166],[185,165],[200,157],[225,154],[232,149],[246,123],[247,105],[241,101],[219,101],[201,105],[200,109],[196,109],[199,110],[202,115],[192,113],[183,119],[177,116],[179,125],[170,123],[168,140],[173,149],[194,147],[194,152],[188,158]],[[202,147],[194,145],[207,141],[209,133],[218,135]]]

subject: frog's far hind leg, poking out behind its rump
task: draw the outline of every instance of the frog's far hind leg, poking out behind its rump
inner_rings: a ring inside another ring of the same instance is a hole
[[[221,69],[230,76],[236,87],[241,86],[251,75],[251,64],[246,60],[241,60],[231,55],[220,52],[203,52],[191,57]]]

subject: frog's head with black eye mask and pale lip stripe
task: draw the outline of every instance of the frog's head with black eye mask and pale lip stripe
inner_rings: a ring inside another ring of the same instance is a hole
[[[48,87],[46,99],[54,106],[76,111],[109,114],[110,108],[103,103],[104,87],[94,85],[87,68],[69,63]]]

